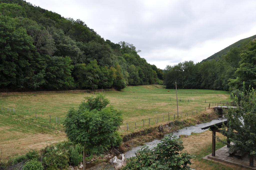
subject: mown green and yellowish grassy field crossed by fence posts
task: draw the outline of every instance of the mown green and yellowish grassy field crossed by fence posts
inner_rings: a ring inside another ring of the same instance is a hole
[[[155,126],[157,117],[158,124],[168,122],[168,112],[170,120],[177,114],[175,90],[168,92],[164,86],[129,86],[121,92],[107,91],[103,94],[114,108],[123,112],[124,124],[119,130],[123,135],[143,129],[143,120],[146,128]],[[28,148],[41,148],[48,142],[66,139],[61,125],[66,112],[72,107],[77,108],[84,97],[90,95],[93,94],[68,92],[1,95],[0,109],[5,108],[5,111],[0,110],[0,146],[3,146],[3,152],[12,152],[12,148],[16,148],[22,153]],[[185,113],[191,116],[192,110],[196,114],[196,109],[200,112],[200,109],[208,108],[209,103],[212,106],[212,103],[215,105],[219,101],[231,101],[229,93],[215,90],[178,90],[179,112],[182,112],[182,117]],[[7,108],[11,108],[11,112],[7,112]],[[56,124],[56,117],[60,118],[60,124]],[[126,123],[129,131],[126,130]]]

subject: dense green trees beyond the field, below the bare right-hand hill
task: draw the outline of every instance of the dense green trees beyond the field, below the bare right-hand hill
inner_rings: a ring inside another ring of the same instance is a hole
[[[254,36],[255,37],[255,36]],[[251,37],[249,37],[251,38]],[[180,89],[241,90],[256,87],[256,39],[232,47],[223,56],[200,63],[180,62],[167,66],[164,84]]]

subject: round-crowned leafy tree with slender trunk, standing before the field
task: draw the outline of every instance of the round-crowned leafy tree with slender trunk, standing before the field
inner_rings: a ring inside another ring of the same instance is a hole
[[[102,94],[86,99],[78,110],[68,111],[63,123],[68,139],[84,146],[83,169],[88,151],[115,142],[115,132],[122,123],[121,112],[106,106],[109,101]]]

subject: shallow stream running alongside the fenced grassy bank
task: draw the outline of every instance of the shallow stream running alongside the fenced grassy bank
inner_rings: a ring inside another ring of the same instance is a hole
[[[204,131],[207,131],[208,129],[201,130],[201,128],[204,128],[204,127],[210,126],[210,125],[214,125],[216,123],[220,123],[220,122],[223,122],[223,121],[226,121],[226,120],[227,119],[225,119],[225,118],[219,118],[219,119],[214,119],[214,120],[212,120],[210,122],[207,122],[207,123],[200,123],[200,124],[197,124],[195,126],[188,126],[186,128],[174,131],[173,135],[177,136],[177,138],[178,138],[179,135],[191,135],[191,133],[204,132]],[[167,136],[167,135],[165,135],[165,136]],[[149,148],[153,148],[160,142],[161,142],[161,139],[155,139],[151,142],[146,142],[145,145],[147,145]],[[136,147],[133,147],[131,150],[125,152],[124,153],[125,158],[130,158],[132,156],[135,156],[135,152],[138,149],[140,149],[141,147],[142,146],[136,146]],[[90,170],[96,170],[96,169],[97,170],[103,170],[103,169],[114,170],[114,167],[110,164],[110,162],[102,162],[102,163],[99,163],[99,164],[91,164],[91,167],[88,167],[88,169],[90,169]]]

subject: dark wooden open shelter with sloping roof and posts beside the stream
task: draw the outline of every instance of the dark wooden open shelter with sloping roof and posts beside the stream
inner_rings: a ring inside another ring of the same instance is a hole
[[[212,131],[212,152],[211,156],[215,156],[215,147],[216,147],[216,132],[220,133],[220,128],[222,128],[223,123],[227,125],[228,121],[220,122],[214,125],[206,126],[201,128],[202,130],[210,129]],[[230,147],[230,141],[227,141],[227,147]],[[253,156],[250,155],[250,166],[253,167]]]

